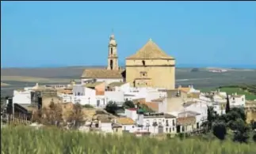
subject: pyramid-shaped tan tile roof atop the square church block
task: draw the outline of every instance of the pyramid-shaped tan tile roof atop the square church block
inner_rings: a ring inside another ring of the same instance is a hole
[[[173,57],[167,55],[162,49],[149,39],[147,43],[132,56],[126,59],[174,59]]]

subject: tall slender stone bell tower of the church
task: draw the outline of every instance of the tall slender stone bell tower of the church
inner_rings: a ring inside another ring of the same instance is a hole
[[[117,57],[117,41],[114,35],[111,35],[109,38],[109,56],[107,69],[119,69]]]

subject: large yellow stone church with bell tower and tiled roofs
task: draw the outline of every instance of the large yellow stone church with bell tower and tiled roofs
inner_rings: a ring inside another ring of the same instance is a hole
[[[133,87],[175,88],[175,58],[167,55],[152,40],[125,59],[125,69],[118,65],[117,40],[114,35],[109,38],[108,66],[105,69],[85,69],[82,84],[92,80],[128,82]]]

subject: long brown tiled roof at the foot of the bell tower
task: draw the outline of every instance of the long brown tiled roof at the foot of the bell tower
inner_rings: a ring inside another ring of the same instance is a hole
[[[82,78],[124,78],[124,70],[85,69]]]

